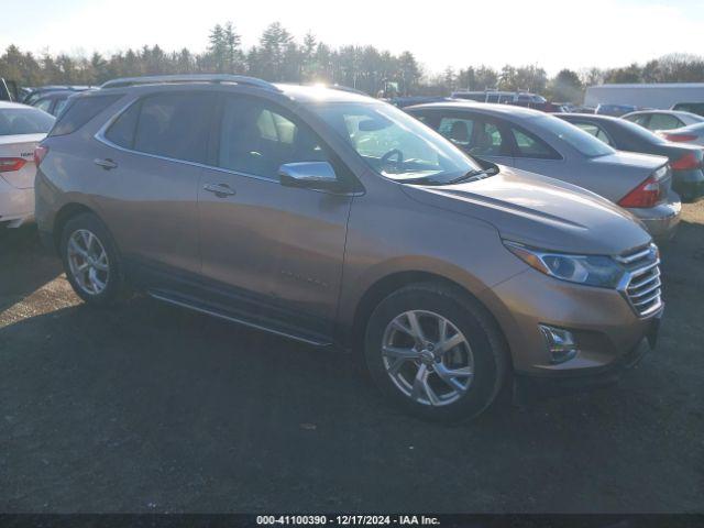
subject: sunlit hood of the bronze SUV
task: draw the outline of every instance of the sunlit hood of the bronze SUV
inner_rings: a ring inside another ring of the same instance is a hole
[[[630,213],[571,184],[502,166],[451,186],[402,186],[413,199],[493,224],[502,238],[565,253],[616,255],[650,242]]]

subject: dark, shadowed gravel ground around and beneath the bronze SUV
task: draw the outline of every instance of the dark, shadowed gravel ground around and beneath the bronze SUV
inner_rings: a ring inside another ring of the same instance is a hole
[[[704,204],[656,353],[615,386],[442,427],[350,358],[146,298],[85,307],[0,235],[0,512],[704,512]]]

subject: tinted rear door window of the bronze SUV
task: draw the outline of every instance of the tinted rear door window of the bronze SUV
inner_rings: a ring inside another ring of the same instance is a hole
[[[205,163],[212,106],[212,97],[208,94],[160,94],[146,97],[136,117],[132,148],[146,154]],[[128,128],[129,123],[124,124]]]

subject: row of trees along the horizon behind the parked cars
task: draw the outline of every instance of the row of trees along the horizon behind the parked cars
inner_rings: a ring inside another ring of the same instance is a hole
[[[667,55],[645,65],[619,68],[562,69],[550,78],[537,65],[501,69],[469,66],[440,74],[425,70],[413,53],[395,55],[374,46],[333,48],[312,33],[301,41],[279,22],[270,24],[257,44],[245,48],[231,22],[210,31],[202,53],[165,51],[158,45],[90,57],[67,54],[38,56],[10,45],[0,55],[0,77],[23,86],[100,85],[117,77],[157,74],[245,74],[271,81],[339,84],[370,95],[449,95],[453,90],[526,90],[556,101],[580,102],[586,86],[601,82],[704,81],[704,57]]]

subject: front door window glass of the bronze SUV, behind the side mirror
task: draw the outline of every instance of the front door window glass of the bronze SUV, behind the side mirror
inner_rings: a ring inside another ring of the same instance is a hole
[[[226,100],[218,166],[278,179],[286,163],[329,162],[315,133],[268,105],[244,97]]]

